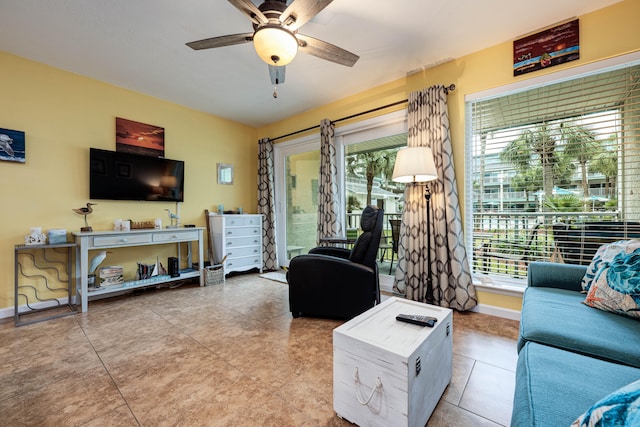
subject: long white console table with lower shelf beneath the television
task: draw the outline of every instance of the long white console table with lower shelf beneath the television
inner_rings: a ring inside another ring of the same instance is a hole
[[[164,228],[142,229],[131,231],[93,231],[73,233],[77,243],[76,249],[76,298],[80,298],[82,311],[88,309],[89,297],[104,295],[114,292],[122,292],[129,289],[141,288],[157,283],[164,283],[188,278],[200,278],[200,286],[203,286],[199,270],[188,268],[180,270],[179,277],[156,276],[150,279],[125,282],[122,286],[109,286],[89,292],[89,251],[99,249],[123,248],[132,246],[165,245],[169,243],[198,242],[199,264],[204,263],[203,227],[195,228]],[[191,251],[189,251],[191,254]],[[188,265],[191,267],[191,255]]]

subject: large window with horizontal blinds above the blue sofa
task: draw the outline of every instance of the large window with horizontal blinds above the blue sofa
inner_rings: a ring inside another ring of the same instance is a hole
[[[525,278],[534,260],[586,265],[602,244],[640,238],[640,65],[467,108],[483,281]]]

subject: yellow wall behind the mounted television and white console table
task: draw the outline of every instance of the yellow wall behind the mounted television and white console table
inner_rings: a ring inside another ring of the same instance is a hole
[[[27,147],[25,164],[0,162],[0,308],[13,307],[13,248],[30,227],[71,232],[84,225],[71,209],[89,201],[89,147],[115,150],[115,117],[165,128],[166,157],[185,161],[182,223],[204,226],[204,209],[218,203],[256,212],[254,128],[3,52],[0,64],[0,128],[24,131]],[[235,165],[234,185],[216,183],[217,162]],[[89,216],[96,231],[111,229],[116,218],[168,224],[164,209],[175,211],[170,202],[96,202]],[[154,257],[124,251],[107,263],[135,267]]]

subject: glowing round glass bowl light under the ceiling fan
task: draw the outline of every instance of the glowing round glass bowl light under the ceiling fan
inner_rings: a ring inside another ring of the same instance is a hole
[[[276,25],[258,28],[253,35],[253,46],[260,59],[269,65],[287,65],[298,52],[298,40],[293,33]]]

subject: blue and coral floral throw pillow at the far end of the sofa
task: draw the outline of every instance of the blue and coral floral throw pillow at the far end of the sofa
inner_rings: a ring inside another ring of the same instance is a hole
[[[605,255],[608,254],[598,264],[584,303],[640,319],[640,247],[628,245],[611,259]]]

